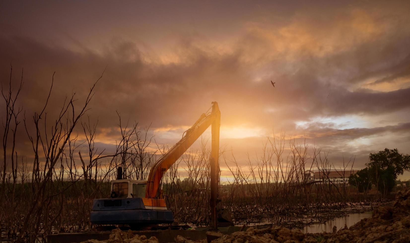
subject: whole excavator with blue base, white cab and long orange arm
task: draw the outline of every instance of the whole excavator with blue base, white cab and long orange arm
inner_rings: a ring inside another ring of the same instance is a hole
[[[90,213],[91,223],[130,226],[173,223],[173,213],[166,207],[164,192],[162,190],[164,173],[209,126],[212,126],[212,148],[210,154],[210,227],[217,229],[217,204],[219,202],[219,127],[221,124],[221,112],[219,111],[217,102],[212,102],[212,111],[208,111],[202,114],[194,125],[184,132],[182,139],[178,141],[178,143],[156,161],[150,170],[147,181],[123,179],[122,168],[118,168],[117,179],[111,182],[112,191],[110,198],[95,199],[93,202],[92,211]],[[221,215],[221,213],[219,213],[219,215]],[[229,216],[225,222],[226,221],[229,221]]]

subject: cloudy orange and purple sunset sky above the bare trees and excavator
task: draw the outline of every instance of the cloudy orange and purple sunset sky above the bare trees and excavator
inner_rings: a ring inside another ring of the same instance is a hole
[[[116,111],[173,145],[217,101],[221,144],[243,164],[282,131],[360,169],[371,152],[410,153],[409,13],[404,0],[1,1],[0,80],[24,68],[30,118],[55,71],[52,116],[106,68],[88,114],[108,150]]]

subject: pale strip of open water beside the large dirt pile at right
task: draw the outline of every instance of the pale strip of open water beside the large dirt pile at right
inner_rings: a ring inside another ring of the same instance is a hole
[[[303,233],[322,233],[322,232],[332,232],[333,226],[336,225],[337,230],[340,228],[344,227],[344,224],[347,225],[347,227],[350,227],[354,225],[355,223],[358,223],[361,219],[363,218],[370,218],[371,217],[371,212],[365,212],[365,213],[351,213],[348,216],[341,217],[341,218],[335,218],[334,220],[329,220],[328,222],[324,224],[314,224],[310,226],[305,226],[302,229]]]

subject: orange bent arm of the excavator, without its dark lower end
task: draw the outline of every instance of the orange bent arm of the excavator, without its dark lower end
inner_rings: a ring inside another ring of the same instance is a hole
[[[146,188],[146,198],[159,198],[159,187],[162,183],[162,177],[175,162],[187,151],[187,149],[196,141],[196,139],[212,125],[212,149],[211,149],[211,177],[219,175],[219,126],[221,124],[221,112],[218,103],[212,102],[212,111],[210,114],[202,114],[200,118],[189,128],[182,136],[182,139],[176,143],[168,152],[153,165],[148,177]],[[213,171],[215,170],[215,171]],[[218,171],[216,171],[218,170]],[[219,178],[219,176],[218,176]],[[217,182],[214,184],[218,184]],[[215,187],[215,186],[214,186]],[[215,188],[214,188],[215,189]],[[218,190],[216,188],[216,190]]]

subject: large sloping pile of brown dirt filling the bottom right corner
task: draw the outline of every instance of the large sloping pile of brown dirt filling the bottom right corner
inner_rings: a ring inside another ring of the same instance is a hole
[[[410,188],[399,191],[393,207],[378,207],[349,229],[323,235],[322,242],[410,242]]]

